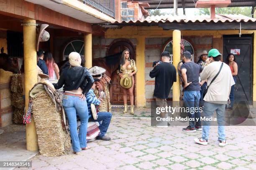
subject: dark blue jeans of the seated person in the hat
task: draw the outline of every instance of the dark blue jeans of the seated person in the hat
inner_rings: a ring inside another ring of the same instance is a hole
[[[94,120],[93,118],[90,118],[90,122],[99,122],[100,123],[99,129],[100,129],[100,135],[99,137],[102,138],[108,130],[108,126],[110,124],[112,114],[110,112],[98,112],[98,118]]]

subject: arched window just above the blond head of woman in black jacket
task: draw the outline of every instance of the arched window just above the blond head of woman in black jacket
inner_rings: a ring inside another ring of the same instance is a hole
[[[63,51],[63,60],[69,58],[70,52],[78,52],[81,57],[84,57],[84,42],[81,40],[74,40],[69,42]]]

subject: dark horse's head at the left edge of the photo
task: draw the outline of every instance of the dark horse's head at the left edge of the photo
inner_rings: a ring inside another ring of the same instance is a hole
[[[6,53],[4,53],[3,47],[1,48],[0,53],[0,68],[13,73],[19,72],[17,65],[13,64],[13,61],[10,59],[10,57]]]

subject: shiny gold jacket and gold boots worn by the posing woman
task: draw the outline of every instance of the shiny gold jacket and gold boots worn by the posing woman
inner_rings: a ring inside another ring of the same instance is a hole
[[[122,65],[120,65],[120,69],[117,70],[117,74],[119,75],[120,73],[122,73],[123,75],[125,74],[130,74],[134,71],[138,71],[137,67],[136,67],[136,63],[133,59],[130,60],[130,65],[128,65],[126,68],[123,67]],[[127,104],[124,105],[124,111],[123,113],[127,112]],[[131,114],[133,114],[133,109],[134,109],[134,105],[131,105]]]

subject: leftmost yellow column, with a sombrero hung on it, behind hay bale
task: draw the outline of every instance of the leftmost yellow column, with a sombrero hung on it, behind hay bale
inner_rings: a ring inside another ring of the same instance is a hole
[[[36,20],[23,20],[23,46],[25,67],[25,103],[28,109],[28,92],[37,82],[36,67]],[[35,122],[26,124],[27,150],[38,150]]]

